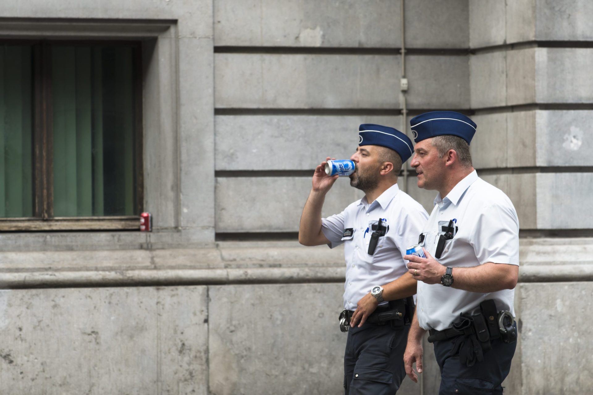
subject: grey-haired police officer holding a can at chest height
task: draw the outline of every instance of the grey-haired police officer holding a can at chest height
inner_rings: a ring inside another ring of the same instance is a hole
[[[515,353],[514,288],[519,222],[509,198],[477,176],[469,144],[476,124],[463,114],[433,111],[410,120],[420,188],[436,190],[420,245],[409,259],[418,280],[416,314],[404,354],[406,373],[422,372],[429,330],[441,370],[440,395],[502,394]]]

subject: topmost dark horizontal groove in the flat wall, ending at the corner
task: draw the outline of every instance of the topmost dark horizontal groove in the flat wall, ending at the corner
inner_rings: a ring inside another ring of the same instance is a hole
[[[214,53],[253,54],[324,54],[324,55],[398,55],[401,48],[359,47],[270,47],[270,46],[215,46]],[[406,55],[463,56],[468,49],[407,48]]]

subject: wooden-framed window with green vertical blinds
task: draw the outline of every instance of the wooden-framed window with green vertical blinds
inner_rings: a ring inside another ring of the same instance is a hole
[[[0,231],[138,229],[141,104],[138,42],[0,42]]]

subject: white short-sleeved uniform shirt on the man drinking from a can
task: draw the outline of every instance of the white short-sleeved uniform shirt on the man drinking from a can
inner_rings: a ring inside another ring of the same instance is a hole
[[[369,255],[372,225],[380,218],[381,225],[388,226],[388,230],[379,237],[374,255]],[[345,309],[356,310],[358,301],[372,287],[387,284],[406,273],[408,261],[403,256],[408,247],[418,243],[426,219],[428,213],[422,205],[394,184],[371,204],[364,197],[342,213],[321,220],[321,230],[330,240],[330,248],[344,243]],[[352,232],[344,236],[346,229]]]

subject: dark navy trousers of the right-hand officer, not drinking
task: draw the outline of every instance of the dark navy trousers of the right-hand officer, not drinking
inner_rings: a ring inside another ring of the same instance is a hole
[[[515,324],[515,328],[517,325]],[[439,395],[500,395],[502,381],[511,370],[517,342],[490,341],[492,349],[484,353],[484,360],[467,367],[459,361],[459,354],[450,356],[455,339],[434,343],[436,362],[441,368]]]

